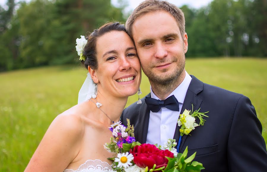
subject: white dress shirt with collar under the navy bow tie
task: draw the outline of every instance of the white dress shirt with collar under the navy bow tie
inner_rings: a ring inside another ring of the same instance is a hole
[[[185,100],[185,94],[191,82],[190,75],[185,72],[185,79],[182,83],[168,96],[174,95],[179,102],[179,112],[167,108],[161,108],[158,112],[150,111],[147,141],[146,143],[164,145],[169,138],[173,138],[177,121]],[[151,98],[160,100],[152,91],[150,86]],[[167,97],[167,98],[168,98]]]

